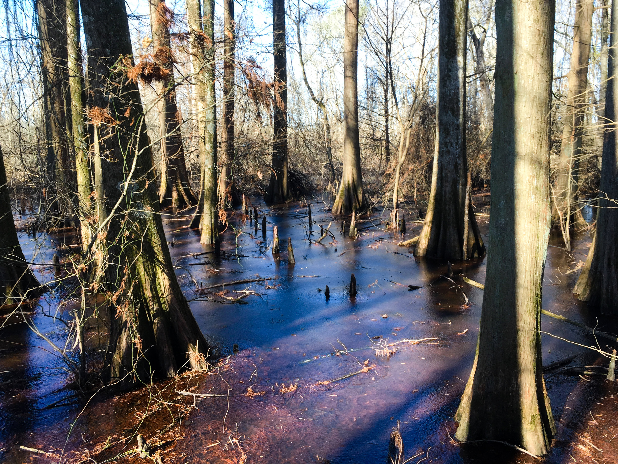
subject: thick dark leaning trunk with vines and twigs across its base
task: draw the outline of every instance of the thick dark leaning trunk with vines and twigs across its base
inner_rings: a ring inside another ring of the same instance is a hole
[[[104,231],[112,292],[107,377],[128,389],[153,372],[205,367],[208,345],[166,246],[140,92],[124,72],[134,66],[124,1],[82,0],[82,17],[92,106],[114,121],[99,127],[110,153],[101,158],[111,218]]]

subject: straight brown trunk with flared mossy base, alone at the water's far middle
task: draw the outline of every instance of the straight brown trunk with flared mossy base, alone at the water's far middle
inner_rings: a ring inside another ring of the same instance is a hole
[[[333,214],[349,214],[368,208],[363,192],[358,139],[358,0],[345,3],[344,27],[344,153],[339,192]]]

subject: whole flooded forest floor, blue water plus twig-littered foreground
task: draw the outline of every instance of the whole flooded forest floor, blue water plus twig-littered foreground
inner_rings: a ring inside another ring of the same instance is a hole
[[[488,207],[476,200],[491,248]],[[483,283],[485,259],[453,263],[449,280],[442,277],[446,262],[419,259],[397,245],[417,235],[420,222],[408,223],[402,236],[385,229],[379,212],[362,215],[360,236],[351,239],[326,203],[316,198],[311,205],[310,224],[306,204],[258,202],[257,231],[236,210],[220,259],[205,254],[198,231],[188,228],[190,211],[164,216],[177,276],[213,349],[208,372],[185,372],[128,393],[94,385],[80,396],[62,359],[33,330],[64,345],[67,327],[54,316],[78,301],[67,302],[58,288],[32,312],[0,319],[0,462],[383,463],[398,422],[405,459],[413,464],[538,462],[504,445],[451,439],[483,297],[462,277]],[[416,210],[405,217],[417,217]],[[334,239],[316,243],[320,225],[331,222]],[[273,226],[279,257],[269,249]],[[288,237],[295,264],[288,262]],[[69,259],[72,239],[67,231],[20,237],[26,259],[39,263],[52,262],[55,252]],[[616,333],[615,317],[570,293],[589,246],[588,234],[580,233],[574,251],[565,252],[552,236],[543,308]],[[54,279],[49,267],[35,272],[41,282]],[[88,332],[93,359],[105,346],[98,324],[103,318],[93,319]],[[541,326],[545,366],[572,356],[569,366],[607,366],[585,348],[597,341],[584,330],[547,316]],[[606,342],[599,338],[598,346],[605,349]],[[558,432],[542,462],[618,462],[616,384],[552,369],[546,385]],[[138,434],[149,456],[135,451]]]

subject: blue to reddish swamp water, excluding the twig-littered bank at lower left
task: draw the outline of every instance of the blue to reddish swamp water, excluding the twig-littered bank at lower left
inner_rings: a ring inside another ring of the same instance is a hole
[[[372,222],[363,215],[363,221],[357,222],[361,235],[353,240],[341,233],[341,222],[333,221],[318,200],[312,203],[316,223],[311,228],[306,207],[258,207],[258,233],[253,223],[235,212],[223,236],[225,254],[220,260],[211,254],[190,256],[208,249],[199,243],[198,232],[188,229],[188,217],[164,218],[167,240],[174,244],[172,261],[195,319],[218,358],[233,366],[227,374],[225,369],[220,371],[218,383],[195,390],[229,392],[229,397],[196,401],[198,409],[177,424],[184,438],[176,445],[174,462],[236,462],[221,458],[226,449],[234,449],[228,442],[233,435],[239,437],[250,463],[383,463],[397,421],[405,458],[417,455],[413,463],[521,462],[520,453],[505,452],[503,447],[479,456],[472,445],[460,447],[450,438],[455,426],[452,416],[472,367],[483,296],[482,290],[464,283],[457,273],[483,283],[485,259],[454,263],[455,285],[441,277],[446,262],[413,257],[407,248],[397,246],[402,236],[385,231],[379,218],[372,217],[376,226],[368,227]],[[263,213],[268,223],[265,239]],[[483,219],[481,231],[486,234]],[[326,229],[330,221],[336,241],[328,237],[316,244],[320,224]],[[279,259],[267,249],[273,226],[279,230]],[[420,226],[412,226],[408,224],[406,238],[418,233]],[[294,265],[287,262],[288,237],[294,245]],[[483,238],[487,241],[487,236]],[[61,243],[60,236],[34,240],[23,234],[21,239],[26,259],[36,262],[51,262],[54,246]],[[589,244],[588,237],[581,236],[574,243],[575,251],[568,254],[552,238],[543,307],[594,327],[593,311],[570,293],[578,272],[567,274],[585,260]],[[53,278],[46,273],[49,269],[35,270],[42,282]],[[355,297],[348,291],[351,273],[357,280]],[[196,286],[257,278],[268,280],[213,288],[210,294],[196,291]],[[422,288],[408,290],[408,285]],[[45,298],[41,299],[44,311],[54,314],[61,295]],[[52,317],[39,309],[27,318],[49,338],[64,343],[66,330]],[[606,316],[599,320],[605,322],[599,330],[612,331],[614,320]],[[542,329],[582,345],[594,343],[582,330],[546,316]],[[70,423],[75,424],[67,446],[72,449],[88,449],[90,440],[126,428],[114,418],[113,408],[106,413],[108,418],[84,413],[73,422],[88,409],[75,403],[73,390],[62,388],[66,379],[62,361],[41,349],[46,342],[27,324],[7,325],[0,338],[0,460],[27,460],[32,453],[19,450],[19,445],[34,446],[41,436],[46,443],[54,437],[53,446],[62,449]],[[381,348],[379,342],[422,338],[437,340],[399,343],[389,358],[376,356],[368,348]],[[601,341],[601,348],[604,345]],[[571,354],[578,354],[576,364],[597,359],[593,351],[543,335],[544,364]],[[368,372],[318,385],[363,369],[365,361],[371,367]],[[19,389],[16,379],[23,383]],[[558,376],[547,381],[557,423],[567,401],[574,398],[570,393],[578,380]],[[296,385],[297,390],[281,393],[282,384]],[[266,393],[243,396],[250,386]],[[46,459],[35,456],[35,460]],[[165,453],[163,458],[166,462]]]

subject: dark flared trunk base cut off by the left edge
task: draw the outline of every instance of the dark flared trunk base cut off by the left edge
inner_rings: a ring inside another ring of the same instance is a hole
[[[23,257],[15,231],[11,195],[0,147],[0,307],[19,304],[40,294],[41,286]]]

